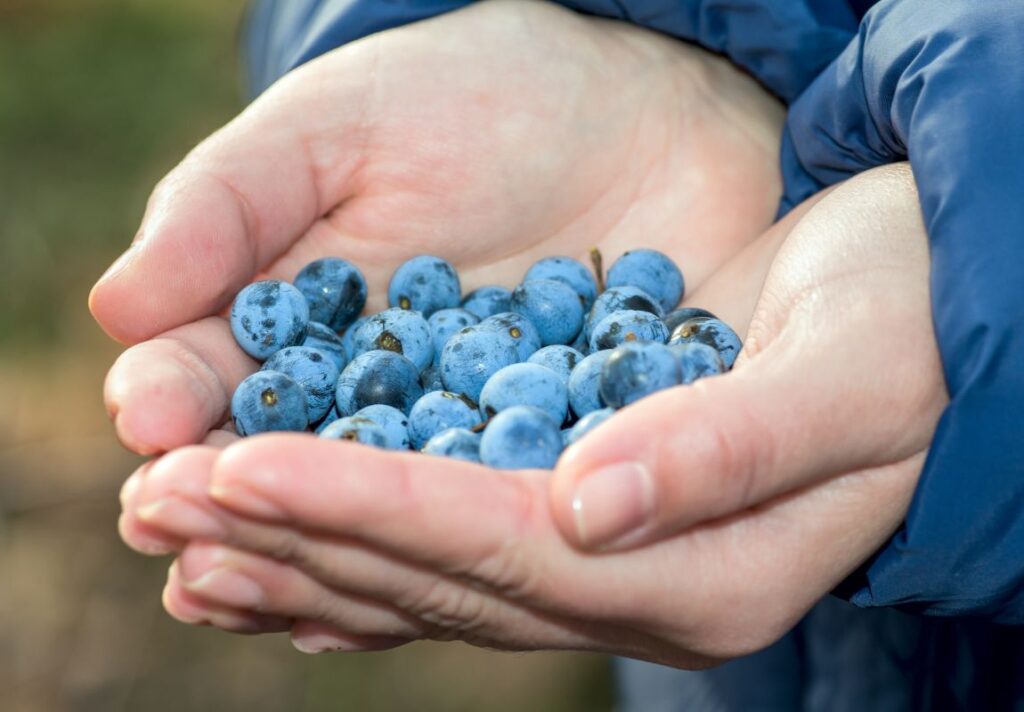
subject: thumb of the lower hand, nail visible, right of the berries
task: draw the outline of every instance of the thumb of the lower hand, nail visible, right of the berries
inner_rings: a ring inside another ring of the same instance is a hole
[[[603,423],[552,478],[563,536],[583,549],[656,541],[926,447],[927,433],[894,437],[916,414],[899,407],[899,394],[886,397],[873,359],[822,368],[829,349],[843,360],[829,344],[819,352],[778,340],[728,374],[662,391]]]

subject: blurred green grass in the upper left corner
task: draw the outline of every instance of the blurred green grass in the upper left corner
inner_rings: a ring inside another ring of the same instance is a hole
[[[153,183],[241,107],[242,4],[2,3],[0,348],[67,339]]]

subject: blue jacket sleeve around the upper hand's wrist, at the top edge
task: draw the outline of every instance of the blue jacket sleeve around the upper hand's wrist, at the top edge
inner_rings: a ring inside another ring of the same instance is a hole
[[[856,0],[864,4],[864,0]],[[375,32],[456,10],[469,0],[258,0],[245,31],[255,95],[281,76]],[[784,101],[847,45],[857,13],[836,0],[559,0],[696,42],[728,56]]]

